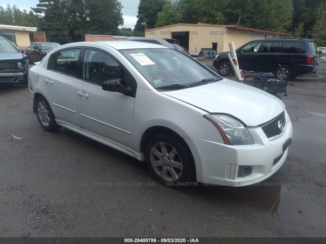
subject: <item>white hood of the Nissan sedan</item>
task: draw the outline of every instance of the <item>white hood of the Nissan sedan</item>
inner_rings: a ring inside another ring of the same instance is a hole
[[[227,79],[161,93],[208,113],[233,115],[250,127],[266,123],[285,109],[284,103],[275,96],[250,85]]]

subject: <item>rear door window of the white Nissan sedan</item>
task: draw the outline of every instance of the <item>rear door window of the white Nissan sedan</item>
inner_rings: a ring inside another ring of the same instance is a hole
[[[52,70],[70,76],[77,76],[80,48],[66,49],[52,55]]]

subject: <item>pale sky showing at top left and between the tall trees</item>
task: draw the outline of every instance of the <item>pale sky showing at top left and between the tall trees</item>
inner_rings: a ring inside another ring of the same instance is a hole
[[[7,0],[8,1],[8,0]],[[8,1],[9,2],[9,1]],[[11,0],[10,3],[4,2],[0,0],[0,6],[6,8],[9,4],[11,7],[16,5],[16,7],[20,10],[27,10],[28,12],[31,10],[31,7],[34,8],[39,3],[38,0]],[[131,28],[133,29],[134,25],[137,22],[137,12],[138,12],[138,5],[139,0],[120,0],[123,8],[123,20],[124,25],[119,27]]]

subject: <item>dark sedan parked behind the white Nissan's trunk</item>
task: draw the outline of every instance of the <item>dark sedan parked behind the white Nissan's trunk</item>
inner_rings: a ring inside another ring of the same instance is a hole
[[[34,62],[40,62],[43,57],[52,49],[59,47],[60,44],[56,42],[33,42],[25,50],[25,54],[28,56],[31,64]]]

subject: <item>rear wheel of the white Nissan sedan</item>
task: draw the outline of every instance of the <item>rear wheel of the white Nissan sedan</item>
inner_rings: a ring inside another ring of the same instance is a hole
[[[49,103],[44,97],[39,97],[36,102],[36,116],[39,120],[41,127],[45,131],[56,131],[59,126],[56,123],[55,115],[53,115],[52,109]]]

